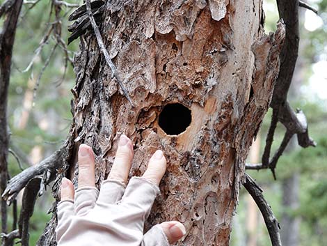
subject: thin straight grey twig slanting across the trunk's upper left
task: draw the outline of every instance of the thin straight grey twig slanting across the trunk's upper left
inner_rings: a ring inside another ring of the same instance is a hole
[[[88,18],[90,19],[90,23],[91,23],[91,25],[93,27],[95,37],[97,38],[97,44],[99,45],[99,48],[100,48],[102,54],[104,54],[104,58],[106,59],[106,63],[111,68],[112,77],[115,77],[115,79],[117,80],[117,82],[118,82],[118,84],[120,86],[120,89],[122,89],[122,92],[124,93],[125,97],[129,101],[129,103],[131,105],[133,105],[133,102],[131,102],[131,98],[129,97],[129,94],[125,89],[125,86],[122,84],[122,80],[120,79],[118,70],[117,70],[117,68],[115,68],[115,64],[113,64],[113,61],[111,61],[110,56],[109,56],[109,54],[108,54],[108,52],[106,50],[106,47],[104,47],[102,36],[100,34],[99,28],[97,27],[97,24],[95,23],[95,19],[93,17],[93,13],[92,13],[92,10],[91,10],[91,5],[90,5],[90,0],[86,0],[86,11],[88,13]]]

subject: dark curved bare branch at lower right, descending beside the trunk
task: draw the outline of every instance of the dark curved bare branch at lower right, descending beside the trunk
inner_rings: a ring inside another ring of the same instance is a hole
[[[282,246],[279,233],[280,225],[275,215],[273,215],[273,210],[271,210],[271,206],[269,206],[269,204],[264,199],[262,189],[248,174],[246,174],[246,182],[243,185],[248,191],[248,193],[251,195],[255,203],[257,203],[257,207],[260,209],[262,217],[264,217],[264,223],[266,224],[266,227],[269,232],[271,245]]]

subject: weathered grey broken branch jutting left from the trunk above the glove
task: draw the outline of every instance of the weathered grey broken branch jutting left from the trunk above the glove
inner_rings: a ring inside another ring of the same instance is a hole
[[[27,183],[29,183],[31,178],[42,176],[46,174],[47,171],[51,173],[47,183],[54,180],[57,169],[59,169],[63,163],[63,151],[64,147],[47,157],[45,160],[42,160],[39,164],[29,167],[17,176],[11,178],[6,190],[2,194],[3,200],[6,200],[7,204],[10,205],[17,194],[27,185]]]

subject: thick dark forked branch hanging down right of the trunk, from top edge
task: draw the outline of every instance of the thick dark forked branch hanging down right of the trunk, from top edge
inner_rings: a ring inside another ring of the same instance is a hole
[[[303,148],[316,146],[316,143],[309,137],[308,123],[305,114],[299,109],[297,112],[294,112],[294,109],[292,109],[287,101],[287,93],[292,82],[296,59],[298,57],[298,6],[301,3],[299,3],[298,0],[277,0],[277,4],[278,13],[280,18],[285,21],[287,29],[285,42],[280,52],[280,72],[270,105],[273,109],[273,115],[271,116],[271,125],[266,137],[266,146],[264,147],[264,153],[262,155],[262,163],[246,164],[246,169],[271,169],[275,179],[275,168],[278,159],[285,151],[289,140],[294,134],[297,134],[298,144]],[[273,135],[278,122],[285,126],[286,132],[280,147],[270,160]]]

